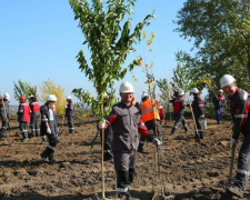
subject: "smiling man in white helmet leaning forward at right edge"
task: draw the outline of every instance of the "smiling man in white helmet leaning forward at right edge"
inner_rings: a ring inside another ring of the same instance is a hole
[[[249,93],[237,87],[236,79],[230,74],[224,74],[220,79],[221,88],[231,100],[230,111],[233,120],[232,137],[230,147],[236,146],[240,132],[244,140],[241,144],[238,157],[238,170],[234,186],[227,188],[229,193],[243,198],[249,176],[250,176],[250,117],[249,117]]]

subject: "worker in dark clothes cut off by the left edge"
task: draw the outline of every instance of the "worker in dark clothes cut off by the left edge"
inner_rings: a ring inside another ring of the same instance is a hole
[[[0,97],[0,117],[2,120],[2,129],[0,138],[6,138],[6,131],[8,128],[8,121],[9,121],[9,93],[4,93],[3,98]]]

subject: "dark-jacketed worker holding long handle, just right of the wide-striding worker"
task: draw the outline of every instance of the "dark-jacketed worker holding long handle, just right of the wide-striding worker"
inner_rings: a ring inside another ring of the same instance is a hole
[[[200,91],[197,88],[191,89],[193,94],[192,111],[197,124],[196,139],[203,139],[203,130],[201,127],[201,120],[204,118],[204,101],[200,98]],[[198,132],[198,133],[197,133]]]

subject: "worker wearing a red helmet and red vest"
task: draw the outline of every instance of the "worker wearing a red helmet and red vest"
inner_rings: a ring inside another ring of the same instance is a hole
[[[26,98],[21,96],[19,98],[19,107],[18,107],[18,122],[19,122],[19,128],[22,134],[22,141],[29,140],[28,137],[28,122],[30,121],[30,107],[28,103],[26,103]]]

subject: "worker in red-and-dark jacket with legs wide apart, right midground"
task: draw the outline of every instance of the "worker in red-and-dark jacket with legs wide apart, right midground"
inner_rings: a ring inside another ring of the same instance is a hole
[[[182,127],[184,129],[186,132],[189,131],[187,123],[186,123],[186,119],[184,119],[184,91],[180,90],[178,93],[179,98],[174,101],[173,104],[173,112],[174,112],[174,117],[176,117],[176,122],[174,126],[172,128],[171,134],[177,134],[176,130],[178,129],[178,127],[182,123]]]

